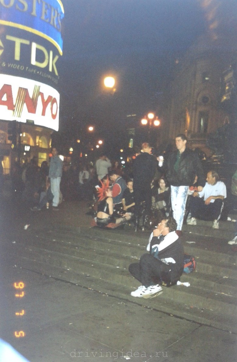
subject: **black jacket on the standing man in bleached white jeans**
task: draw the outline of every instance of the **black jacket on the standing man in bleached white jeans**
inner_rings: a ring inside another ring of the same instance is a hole
[[[205,186],[205,177],[203,167],[198,155],[185,148],[181,153],[178,172],[175,171],[174,165],[177,159],[177,152],[172,152],[167,162],[166,177],[172,186],[191,186],[194,183],[195,176],[198,176],[198,186]]]

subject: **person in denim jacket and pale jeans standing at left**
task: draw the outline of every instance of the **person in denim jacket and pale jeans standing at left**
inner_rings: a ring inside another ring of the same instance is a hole
[[[60,196],[60,182],[63,172],[63,161],[58,156],[58,150],[56,147],[52,148],[52,157],[49,165],[49,177],[51,183],[51,191],[54,195],[53,198],[53,210],[58,210],[59,196]]]

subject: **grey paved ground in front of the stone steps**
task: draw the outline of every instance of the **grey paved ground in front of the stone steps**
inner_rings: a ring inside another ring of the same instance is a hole
[[[90,231],[92,218],[86,215],[87,203],[83,201],[63,202],[59,211],[30,212],[6,200],[1,201],[0,207],[4,243],[17,242],[17,230],[19,235],[25,232],[27,242],[26,225],[29,230],[39,231],[49,223]],[[161,312],[142,305],[141,301],[138,303],[137,298],[128,300],[122,295],[95,291],[75,282],[17,268],[15,257],[16,264],[11,253],[7,255],[4,251],[3,254],[0,336],[28,361],[236,360],[236,333],[179,317],[172,314],[172,310]],[[18,284],[20,282],[23,284]],[[17,283],[15,287],[14,283]],[[21,289],[17,289],[19,286]],[[23,296],[16,296],[22,292]],[[17,360],[1,359],[0,354],[0,361]]]

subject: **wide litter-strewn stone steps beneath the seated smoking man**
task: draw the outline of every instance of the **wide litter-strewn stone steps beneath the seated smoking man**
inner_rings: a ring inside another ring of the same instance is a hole
[[[36,227],[27,234],[20,232],[16,243],[3,240],[2,250],[18,267],[198,323],[236,331],[236,254],[223,241],[223,234],[216,233],[219,230],[214,230],[217,236],[204,236],[191,229],[190,238],[190,228],[186,226],[182,240],[185,252],[195,255],[197,268],[191,274],[183,274],[181,281],[188,281],[191,286],[163,287],[163,294],[153,299],[130,296],[140,283],[128,272],[129,264],[138,261],[146,251],[149,232],[134,233],[129,227],[108,231],[63,225],[45,230]],[[231,230],[223,231],[225,235],[227,232]],[[188,244],[189,240],[195,244]]]

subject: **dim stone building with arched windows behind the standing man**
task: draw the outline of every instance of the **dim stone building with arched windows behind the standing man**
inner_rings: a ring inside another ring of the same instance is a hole
[[[167,136],[184,133],[191,148],[200,148],[207,156],[208,134],[230,122],[232,115],[223,106],[224,72],[236,63],[236,39],[201,36],[176,61],[171,84]]]

